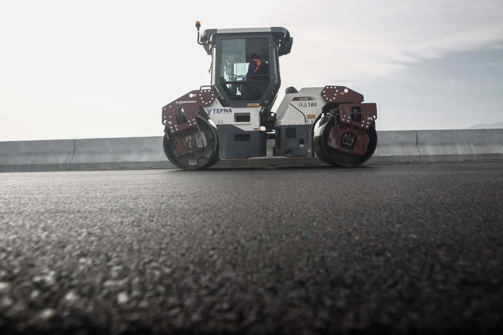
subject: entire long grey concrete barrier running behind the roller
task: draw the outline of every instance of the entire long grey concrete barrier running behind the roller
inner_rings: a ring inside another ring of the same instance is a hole
[[[0,172],[173,168],[162,136],[0,142]],[[503,129],[379,131],[367,164],[503,160]],[[216,167],[321,165],[317,157],[222,159]]]

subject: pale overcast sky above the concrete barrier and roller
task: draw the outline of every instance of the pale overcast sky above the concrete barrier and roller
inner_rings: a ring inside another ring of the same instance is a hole
[[[0,141],[162,136],[161,107],[210,83],[196,20],[285,27],[281,92],[351,87],[378,130],[503,121],[501,0],[251,4],[2,0]]]

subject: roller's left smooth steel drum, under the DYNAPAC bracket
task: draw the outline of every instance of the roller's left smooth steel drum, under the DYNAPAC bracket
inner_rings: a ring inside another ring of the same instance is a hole
[[[206,120],[197,118],[199,130],[204,133],[206,147],[193,151],[190,154],[180,155],[175,148],[175,137],[170,139],[164,134],[164,154],[173,165],[184,170],[204,169],[215,165],[219,160],[218,156],[218,134],[215,126]]]

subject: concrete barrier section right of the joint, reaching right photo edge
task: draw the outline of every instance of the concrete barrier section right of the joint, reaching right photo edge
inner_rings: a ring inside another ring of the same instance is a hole
[[[503,159],[503,129],[418,130],[422,162]]]

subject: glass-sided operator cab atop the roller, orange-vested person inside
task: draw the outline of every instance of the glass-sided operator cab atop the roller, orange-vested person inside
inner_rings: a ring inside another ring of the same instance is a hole
[[[290,53],[292,42],[281,27],[205,30],[198,43],[212,57],[211,87],[222,106],[270,108],[281,85],[278,58]],[[261,64],[247,75],[253,54]]]

